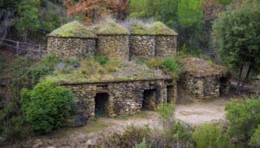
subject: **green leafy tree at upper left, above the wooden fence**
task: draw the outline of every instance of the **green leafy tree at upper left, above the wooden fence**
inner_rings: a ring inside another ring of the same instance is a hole
[[[39,4],[39,0],[23,0],[18,5],[19,18],[17,19],[16,27],[18,32],[22,34],[25,42],[27,42],[27,34],[37,32],[40,28]]]

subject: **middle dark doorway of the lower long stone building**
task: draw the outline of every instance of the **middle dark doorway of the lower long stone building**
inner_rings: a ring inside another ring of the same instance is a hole
[[[155,107],[155,100],[156,100],[156,90],[144,90],[143,91],[143,102],[142,102],[142,109],[143,110],[154,110]]]

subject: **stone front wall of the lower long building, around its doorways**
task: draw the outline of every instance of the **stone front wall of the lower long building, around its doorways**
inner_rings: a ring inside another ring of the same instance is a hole
[[[150,100],[152,109],[160,102],[167,101],[167,86],[164,80],[155,81],[128,81],[115,83],[96,84],[70,84],[65,85],[72,90],[76,96],[77,112],[90,116],[95,116],[95,96],[96,93],[108,93],[108,116],[133,115],[140,112],[145,90],[156,91],[155,100]]]

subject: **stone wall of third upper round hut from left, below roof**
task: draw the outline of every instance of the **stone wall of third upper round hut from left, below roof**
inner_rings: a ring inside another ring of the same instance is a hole
[[[155,57],[155,36],[130,36],[130,59],[136,57],[143,59],[150,59]]]

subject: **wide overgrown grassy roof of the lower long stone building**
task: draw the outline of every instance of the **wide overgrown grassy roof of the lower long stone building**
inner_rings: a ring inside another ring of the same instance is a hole
[[[80,62],[74,61],[69,64],[60,62],[53,74],[46,76],[47,80],[57,83],[94,83],[163,78],[164,76],[156,74],[144,65],[108,60],[103,56],[89,57]]]

